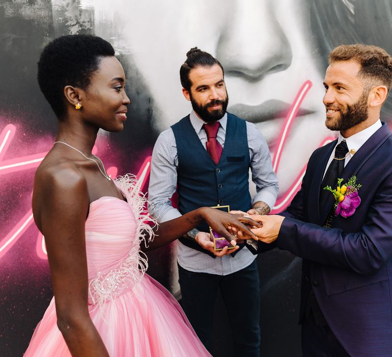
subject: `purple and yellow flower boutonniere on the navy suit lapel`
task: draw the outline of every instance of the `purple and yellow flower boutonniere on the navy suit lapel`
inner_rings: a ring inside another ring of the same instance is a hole
[[[335,197],[335,216],[350,217],[354,214],[355,209],[361,203],[358,195],[358,189],[361,187],[357,184],[357,177],[351,176],[350,180],[341,185],[343,179],[337,179],[337,187],[332,190],[331,186],[324,187],[324,190],[332,192]]]

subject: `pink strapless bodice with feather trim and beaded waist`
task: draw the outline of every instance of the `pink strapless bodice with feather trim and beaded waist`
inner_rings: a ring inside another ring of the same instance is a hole
[[[128,202],[104,196],[90,203],[85,224],[90,304],[111,300],[133,287],[148,266],[140,241],[143,232],[152,239],[151,228],[145,224],[143,198],[126,179],[116,184]]]

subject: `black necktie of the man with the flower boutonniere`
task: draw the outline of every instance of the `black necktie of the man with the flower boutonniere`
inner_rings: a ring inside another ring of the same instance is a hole
[[[325,173],[323,182],[321,184],[320,193],[320,208],[321,210],[333,197],[332,193],[324,190],[324,187],[331,186],[332,189],[336,189],[337,179],[340,178],[341,172],[345,167],[345,159],[349,148],[347,147],[346,140],[342,140],[339,145],[335,148],[335,155],[328,166],[327,172]]]

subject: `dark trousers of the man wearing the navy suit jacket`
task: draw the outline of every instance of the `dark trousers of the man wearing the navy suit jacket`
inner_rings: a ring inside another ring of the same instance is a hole
[[[350,357],[328,324],[317,324],[313,312],[302,322],[302,355],[304,357]]]

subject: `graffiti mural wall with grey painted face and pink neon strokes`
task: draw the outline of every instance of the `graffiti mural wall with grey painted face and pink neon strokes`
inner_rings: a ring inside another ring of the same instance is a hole
[[[99,134],[94,152],[112,177],[136,174],[143,192],[157,136],[190,111],[179,80],[185,54],[194,46],[211,53],[225,68],[228,111],[254,122],[268,142],[281,212],[311,152],[334,139],[322,103],[330,49],[364,42],[391,53],[391,28],[388,0],[0,0],[0,355],[22,355],[52,296],[31,211],[34,172],[57,126],[36,81],[47,42],[88,33],[112,43],[128,78],[130,115],[122,133]],[[381,119],[391,117],[389,98]],[[175,244],[149,259],[149,273],[179,298]],[[301,355],[300,265],[285,251],[258,257],[263,355]],[[216,346],[214,355],[231,355],[230,345]]]

